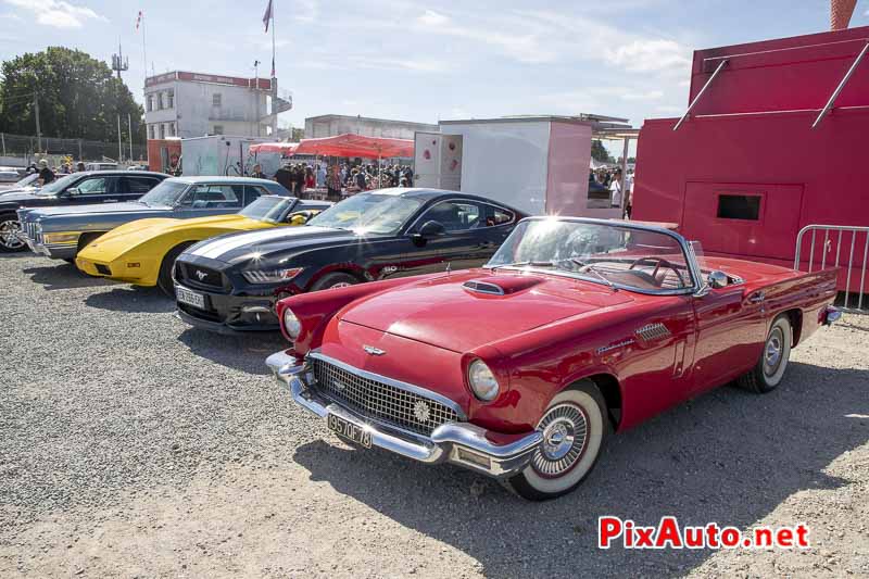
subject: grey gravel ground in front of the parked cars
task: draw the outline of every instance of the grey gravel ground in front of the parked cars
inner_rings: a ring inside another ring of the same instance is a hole
[[[0,577],[869,575],[869,319],[610,439],[545,504],[352,450],[291,405],[279,337],[188,329],[158,291],[0,255]],[[595,549],[603,514],[806,523],[807,551]]]

